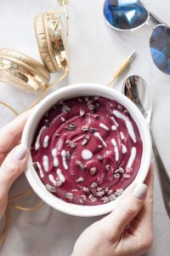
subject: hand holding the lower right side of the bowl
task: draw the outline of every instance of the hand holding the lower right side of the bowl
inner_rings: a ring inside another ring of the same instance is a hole
[[[151,246],[153,163],[144,183],[131,185],[115,211],[82,232],[71,256],[139,256]]]

